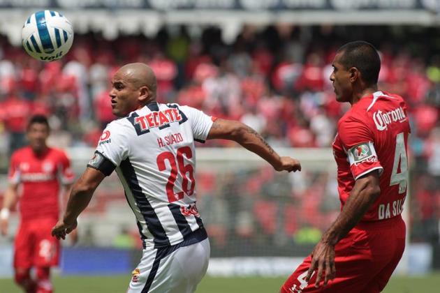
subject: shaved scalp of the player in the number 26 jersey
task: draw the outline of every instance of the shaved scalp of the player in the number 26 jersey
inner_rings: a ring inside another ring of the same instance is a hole
[[[136,89],[147,87],[152,92],[154,99],[156,98],[156,75],[154,75],[152,68],[147,66],[147,64],[129,63],[119,68],[117,74],[124,76],[124,79]]]

